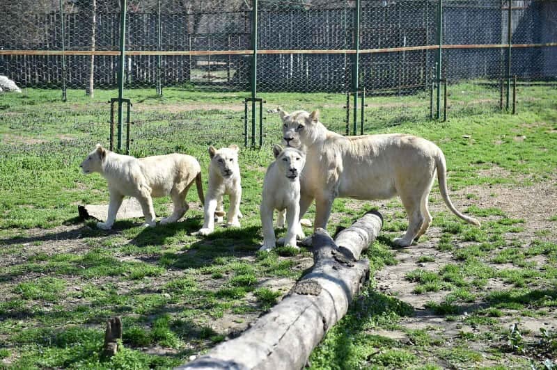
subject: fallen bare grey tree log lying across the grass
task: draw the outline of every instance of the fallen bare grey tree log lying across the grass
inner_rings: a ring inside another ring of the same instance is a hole
[[[240,337],[176,369],[301,369],[325,332],[346,314],[369,279],[369,261],[354,256],[368,248],[382,227],[368,212],[338,234],[313,234],[313,267],[292,290]],[[346,246],[338,246],[338,243]]]

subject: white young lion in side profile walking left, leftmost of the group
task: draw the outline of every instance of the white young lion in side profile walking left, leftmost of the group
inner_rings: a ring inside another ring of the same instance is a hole
[[[201,167],[197,159],[186,154],[166,154],[137,159],[104,149],[100,144],[79,165],[84,173],[98,172],[109,184],[110,204],[107,221],[97,223],[97,227],[110,230],[125,195],[134,197],[141,204],[145,216],[144,226],[155,226],[155,211],[152,199],[170,195],[174,209],[162,224],[178,221],[189,206],[187,191],[196,182],[201,203],[203,186]]]

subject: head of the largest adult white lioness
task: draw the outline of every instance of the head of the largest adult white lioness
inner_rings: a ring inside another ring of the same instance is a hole
[[[299,148],[315,140],[315,131],[319,119],[317,111],[295,111],[290,114],[278,108],[283,121],[283,144],[288,147]]]

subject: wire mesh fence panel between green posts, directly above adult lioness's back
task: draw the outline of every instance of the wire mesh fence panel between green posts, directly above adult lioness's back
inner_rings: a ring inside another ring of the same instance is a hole
[[[437,1],[362,1],[359,70],[369,129],[430,115],[434,53],[427,46],[435,43],[436,11]]]

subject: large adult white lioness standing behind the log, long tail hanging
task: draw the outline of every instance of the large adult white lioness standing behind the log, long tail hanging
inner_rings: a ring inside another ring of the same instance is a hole
[[[342,136],[327,130],[317,111],[288,114],[278,108],[278,113],[284,143],[306,152],[300,178],[300,217],[315,199],[315,228],[326,227],[337,197],[370,200],[399,195],[409,222],[406,234],[393,243],[409,246],[432,221],[427,201],[436,170],[448,209],[480,226],[478,220],[464,216],[450,202],[445,156],[434,143],[405,134]]]

